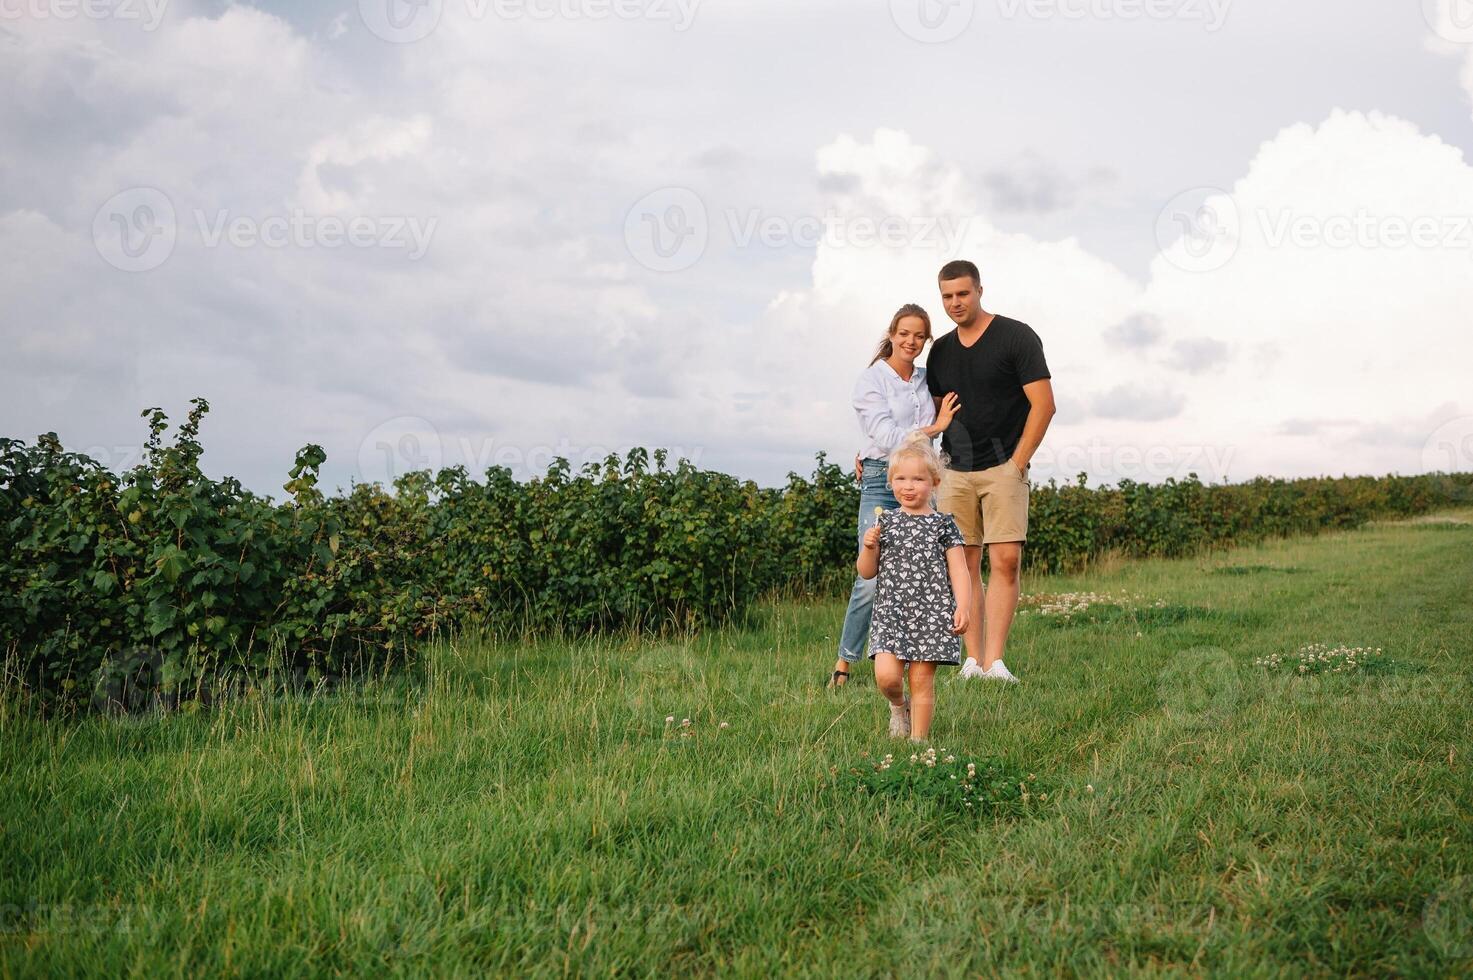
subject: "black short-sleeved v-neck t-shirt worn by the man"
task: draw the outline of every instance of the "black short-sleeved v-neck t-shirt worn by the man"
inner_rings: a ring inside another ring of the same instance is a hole
[[[941,436],[953,470],[985,470],[1012,457],[1028,421],[1022,386],[1049,377],[1043,342],[1027,323],[994,315],[972,346],[956,330],[931,346],[927,388],[940,398],[956,392],[962,410]]]

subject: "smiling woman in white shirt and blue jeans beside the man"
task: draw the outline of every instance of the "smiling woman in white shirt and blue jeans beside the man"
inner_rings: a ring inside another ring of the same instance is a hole
[[[916,304],[906,304],[890,320],[890,330],[875,352],[875,360],[854,383],[854,413],[865,433],[865,448],[860,449],[856,466],[859,479],[859,533],[875,523],[875,508],[899,507],[885,482],[885,464],[890,452],[904,442],[906,435],[924,432],[929,438],[941,435],[952,416],[960,408],[955,393],[941,401],[940,413],[925,386],[925,368],[916,367],[916,358],[931,339],[931,317]],[[875,607],[875,579],[854,578],[848,594],[848,610],[844,613],[844,631],[838,640],[838,660],[829,687],[843,687],[848,681],[848,665],[865,656],[869,640],[869,617]]]

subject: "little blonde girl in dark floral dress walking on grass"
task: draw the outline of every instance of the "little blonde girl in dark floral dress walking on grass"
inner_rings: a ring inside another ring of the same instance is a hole
[[[879,514],[854,561],[860,578],[879,575],[869,656],[875,685],[890,701],[890,734],[912,741],[931,734],[935,668],[960,662],[959,637],[971,607],[962,532],[950,514],[931,510],[943,466],[922,432],[910,433],[890,454],[890,488],[900,508]]]

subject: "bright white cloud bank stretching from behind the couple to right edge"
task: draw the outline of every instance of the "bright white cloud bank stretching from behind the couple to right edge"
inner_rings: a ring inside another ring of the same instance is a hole
[[[1231,472],[1203,476],[1234,479],[1414,472],[1433,410],[1467,398],[1473,335],[1458,324],[1473,308],[1473,168],[1405,121],[1333,112],[1279,133],[1231,189],[1231,258],[1187,271],[1167,249],[1146,283],[1072,240],[1009,234],[969,212],[957,169],[903,134],[843,137],[819,152],[819,171],[848,178],[835,181],[854,189],[835,195],[844,214],[971,217],[950,251],[820,248],[812,290],[779,296],[770,326],[794,360],[816,364],[823,346],[834,351],[815,379],[834,392],[815,439],[841,419],[853,427],[846,382],[894,307],[938,308],[935,268],[955,255],[982,268],[988,309],[1043,337],[1064,407],[1055,452],[1164,449],[1184,473],[1202,472],[1189,460],[1211,447]],[[1152,357],[1162,337],[1168,348]],[[1357,424],[1312,438],[1286,429],[1315,417]],[[1112,458],[1100,457],[1099,476],[1134,475]]]

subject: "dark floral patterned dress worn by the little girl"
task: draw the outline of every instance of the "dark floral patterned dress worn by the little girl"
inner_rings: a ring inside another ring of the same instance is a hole
[[[956,597],[946,570],[946,553],[960,548],[962,532],[950,514],[879,514],[879,582],[875,619],[869,626],[869,656],[893,653],[900,660],[949,663],[962,657],[960,637],[952,634]]]

